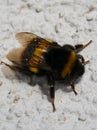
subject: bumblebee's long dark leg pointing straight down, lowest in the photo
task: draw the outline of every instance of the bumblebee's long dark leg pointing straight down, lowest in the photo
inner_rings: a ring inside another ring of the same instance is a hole
[[[54,112],[56,110],[55,103],[54,103],[54,100],[55,100],[55,88],[54,88],[55,81],[54,81],[53,76],[51,74],[48,75],[48,84],[50,86],[50,98],[51,98],[51,103],[52,103],[53,112]]]

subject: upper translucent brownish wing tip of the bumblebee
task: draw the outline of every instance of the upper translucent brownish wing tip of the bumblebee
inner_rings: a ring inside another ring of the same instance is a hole
[[[16,34],[16,39],[23,45],[26,46],[33,41],[33,39],[39,38],[39,36],[29,32],[19,32]]]

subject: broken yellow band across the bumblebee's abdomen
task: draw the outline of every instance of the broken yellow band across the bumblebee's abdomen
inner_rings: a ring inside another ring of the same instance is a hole
[[[38,73],[38,65],[42,60],[42,55],[47,50],[49,44],[51,44],[49,41],[40,41],[39,46],[35,49],[32,58],[29,61],[30,71]]]

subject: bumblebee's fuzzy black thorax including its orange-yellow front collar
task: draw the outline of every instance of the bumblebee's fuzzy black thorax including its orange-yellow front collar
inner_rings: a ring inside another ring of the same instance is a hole
[[[46,62],[52,70],[57,72],[59,77],[64,79],[70,75],[76,61],[75,51],[67,48],[58,48],[50,50],[46,55]]]

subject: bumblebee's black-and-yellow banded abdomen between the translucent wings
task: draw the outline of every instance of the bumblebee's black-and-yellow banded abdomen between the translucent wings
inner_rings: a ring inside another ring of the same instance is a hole
[[[43,54],[47,51],[48,47],[53,42],[48,42],[44,39],[35,38],[29,45],[26,47],[23,56],[22,63],[25,66],[28,66],[28,69],[34,73],[39,72],[39,66],[43,59]]]

